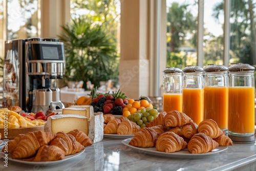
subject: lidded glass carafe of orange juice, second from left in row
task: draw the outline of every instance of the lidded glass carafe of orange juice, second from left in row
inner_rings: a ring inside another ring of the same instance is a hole
[[[182,71],[182,112],[199,125],[203,121],[203,68],[187,66]]]

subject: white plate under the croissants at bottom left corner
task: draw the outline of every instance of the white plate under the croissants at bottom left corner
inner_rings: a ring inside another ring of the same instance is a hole
[[[28,165],[37,165],[37,166],[50,166],[50,165],[55,165],[55,164],[59,164],[62,162],[65,162],[67,160],[70,160],[74,157],[79,156],[80,154],[82,154],[86,149],[83,149],[81,152],[76,153],[74,155],[68,155],[65,156],[65,158],[63,160],[57,160],[57,161],[40,161],[40,162],[35,162],[35,161],[24,161],[22,159],[12,159],[12,155],[9,154],[8,155],[8,160],[13,161],[13,162],[17,162],[17,163],[23,163],[23,164],[28,164]],[[5,153],[0,152],[0,157],[5,157]]]

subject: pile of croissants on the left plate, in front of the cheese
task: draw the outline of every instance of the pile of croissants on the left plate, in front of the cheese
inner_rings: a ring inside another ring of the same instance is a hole
[[[92,144],[92,140],[81,130],[73,130],[67,134],[38,131],[19,134],[2,151],[12,154],[13,159],[56,161],[79,153]]]

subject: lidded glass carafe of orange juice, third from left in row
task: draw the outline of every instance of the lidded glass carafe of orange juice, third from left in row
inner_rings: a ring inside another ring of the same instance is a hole
[[[227,67],[208,65],[204,68],[204,119],[215,120],[227,131],[228,74]]]

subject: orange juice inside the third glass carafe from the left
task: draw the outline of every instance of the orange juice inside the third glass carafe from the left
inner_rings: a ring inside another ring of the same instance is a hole
[[[204,119],[213,119],[221,130],[227,130],[228,88],[204,87]]]

